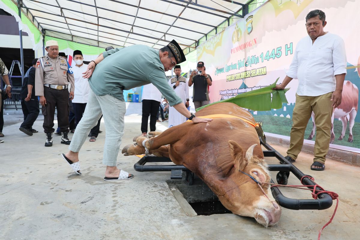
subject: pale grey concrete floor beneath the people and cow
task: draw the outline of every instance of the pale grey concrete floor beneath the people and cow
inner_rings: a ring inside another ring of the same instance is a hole
[[[33,136],[18,130],[16,117],[8,118],[13,124],[5,126],[5,142],[0,144],[0,239],[317,239],[335,207],[336,201],[321,211],[283,208],[278,226],[269,228],[234,214],[188,216],[166,183],[170,172],[135,172],[137,157],[118,156],[118,167],[133,173],[133,179],[103,180],[104,124],[96,142],[86,141],[81,149],[78,176],[60,156],[67,146],[59,136],[54,136],[53,147],[44,147],[41,118],[33,126],[40,131]],[[126,116],[125,121],[121,148],[140,133],[140,116]],[[164,130],[163,125],[158,128]],[[273,146],[285,154],[285,147]],[[310,171],[311,162],[311,155],[300,154],[296,166],[338,193],[340,200],[321,239],[359,239],[360,168],[329,159],[325,171],[315,172]],[[290,175],[289,184],[300,182]],[[311,198],[310,191],[283,193]]]

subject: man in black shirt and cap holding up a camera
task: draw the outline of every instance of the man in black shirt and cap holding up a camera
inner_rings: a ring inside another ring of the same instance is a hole
[[[205,72],[204,62],[198,62],[197,71],[192,71],[189,78],[189,87],[193,85],[193,103],[195,109],[210,103],[208,86],[212,85],[212,79]]]

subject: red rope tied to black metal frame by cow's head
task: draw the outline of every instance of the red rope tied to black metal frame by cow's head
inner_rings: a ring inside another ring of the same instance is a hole
[[[334,209],[334,213],[333,213],[333,216],[331,216],[330,220],[323,226],[323,228],[321,228],[321,230],[319,231],[319,235],[318,235],[318,240],[320,240],[320,236],[321,236],[321,231],[323,231],[323,229],[328,226],[332,221],[333,221],[333,218],[335,216],[335,213],[336,213],[336,210],[337,210],[337,207],[339,205],[339,195],[337,193],[334,193],[332,191],[325,191],[321,186],[319,186],[318,184],[315,184],[315,185],[304,185],[302,180],[305,178],[305,177],[308,177],[310,178],[312,181],[314,181],[314,178],[313,177],[310,177],[310,176],[303,176],[301,179],[300,179],[300,182],[302,185],[281,185],[281,184],[273,184],[271,182],[262,182],[264,184],[269,184],[271,185],[271,187],[292,187],[292,188],[297,188],[297,189],[304,189],[304,190],[310,190],[312,191],[311,195],[312,195],[312,198],[314,199],[318,199],[318,196],[319,194],[322,194],[322,193],[327,193],[331,196],[331,198],[333,200],[336,199],[336,206],[335,206],[335,209]],[[260,185],[259,185],[260,186]],[[313,187],[313,189],[308,189],[308,188],[303,188],[303,187]],[[321,190],[318,190],[316,189],[316,187],[319,187]],[[264,190],[263,190],[263,193],[264,193]],[[265,193],[264,193],[265,194]],[[266,194],[265,194],[266,195]]]

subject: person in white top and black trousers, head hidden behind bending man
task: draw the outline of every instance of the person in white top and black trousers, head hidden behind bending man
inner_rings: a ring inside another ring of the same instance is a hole
[[[150,132],[156,130],[157,113],[161,101],[161,92],[152,84],[144,85],[141,96],[143,102],[143,117],[141,118],[141,132],[146,136],[148,132],[148,120],[150,116]]]

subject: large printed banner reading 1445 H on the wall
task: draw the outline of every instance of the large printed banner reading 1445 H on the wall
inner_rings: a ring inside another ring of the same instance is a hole
[[[344,84],[343,103],[335,109],[334,145],[331,147],[359,151],[360,114],[356,113],[360,87],[360,34],[355,30],[356,23],[360,22],[360,1],[269,0],[200,45],[197,59],[205,63],[206,73],[213,80],[209,92],[211,102],[269,86],[278,77],[278,83],[281,83],[286,76],[285,69],[291,64],[297,42],[308,36],[305,17],[314,9],[323,10],[326,14],[324,31],[341,36],[346,45],[348,63],[345,80],[350,83]],[[265,132],[289,136],[297,86],[297,79],[287,85],[291,88],[286,93],[289,103],[284,104],[283,108],[252,112]],[[311,133],[312,128],[310,119],[305,139],[315,140],[316,134]],[[314,144],[314,141],[311,142]]]

